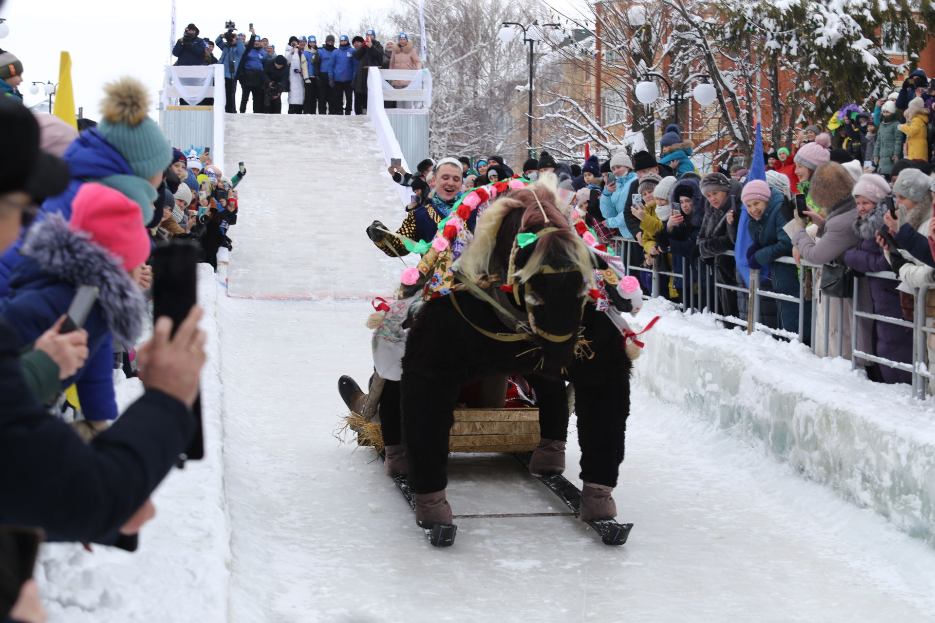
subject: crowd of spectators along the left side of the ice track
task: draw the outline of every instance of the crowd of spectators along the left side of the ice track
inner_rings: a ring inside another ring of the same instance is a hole
[[[120,545],[153,516],[151,492],[194,437],[205,361],[197,305],[175,327],[154,319],[141,344],[151,257],[187,245],[216,267],[231,248],[246,168],[227,177],[207,149],[173,148],[135,78],[109,83],[101,119],[83,120],[80,132],[34,114],[14,79],[22,63],[3,50],[0,58],[0,124],[17,146],[0,164],[0,468],[17,474],[0,483],[0,551],[10,555],[4,526]],[[86,286],[97,298],[71,326]],[[115,373],[145,389],[122,415]],[[45,620],[35,582],[0,620]]]

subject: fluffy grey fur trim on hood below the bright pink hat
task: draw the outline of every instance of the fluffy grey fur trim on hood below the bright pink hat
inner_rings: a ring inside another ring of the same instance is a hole
[[[45,273],[75,287],[96,286],[110,333],[124,344],[135,344],[143,329],[146,299],[120,261],[88,239],[72,232],[60,214],[33,225],[22,244],[22,255],[36,261]]]

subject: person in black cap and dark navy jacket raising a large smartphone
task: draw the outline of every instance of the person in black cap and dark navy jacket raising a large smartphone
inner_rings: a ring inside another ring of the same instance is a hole
[[[21,104],[0,101],[0,124],[17,145],[0,154],[0,250],[6,250],[35,210],[30,195],[56,187],[59,177],[66,184],[68,173],[42,157],[38,124]],[[40,527],[49,540],[102,544],[139,530],[151,517],[151,492],[194,432],[189,409],[205,361],[201,315],[194,309],[174,337],[171,321],[157,320],[139,351],[146,392],[90,444],[50,418],[30,391],[19,359],[22,337],[0,316],[0,471],[7,474],[0,478],[0,524]],[[109,375],[108,384],[112,390]]]

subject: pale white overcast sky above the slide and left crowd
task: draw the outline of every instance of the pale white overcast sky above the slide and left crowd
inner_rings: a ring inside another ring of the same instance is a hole
[[[426,0],[426,10],[436,1]],[[548,4],[570,7],[583,1],[551,0]],[[394,5],[393,0],[341,0],[340,8],[328,10],[324,8],[327,4],[297,3],[293,8],[289,3],[257,0],[177,0],[174,37],[179,37],[189,22],[212,40],[223,32],[224,21],[236,21],[237,32],[247,32],[248,24],[253,22],[256,34],[266,36],[281,50],[290,35],[316,35],[324,43],[326,23],[355,28],[368,15]],[[478,10],[483,10],[483,4],[478,0]],[[309,17],[300,17],[303,14]],[[150,87],[155,108],[170,58],[171,0],[7,0],[0,8],[0,18],[7,20],[10,31],[7,38],[0,39],[0,48],[22,60],[25,82],[20,90],[27,106],[45,98],[41,91],[37,95],[29,92],[30,82],[58,82],[60,53],[67,50],[72,59],[75,106],[84,107],[85,117],[99,118],[104,84],[124,75],[136,76]],[[410,30],[417,29],[418,24],[410,26]],[[395,33],[378,31],[378,35],[382,39]],[[220,50],[215,50],[215,56],[220,58]]]

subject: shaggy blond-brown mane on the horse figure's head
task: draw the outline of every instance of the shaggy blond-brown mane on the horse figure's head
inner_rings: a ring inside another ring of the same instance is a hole
[[[552,264],[576,268],[585,283],[591,283],[594,280],[593,255],[568,224],[568,205],[562,205],[558,197],[557,181],[554,174],[545,174],[524,189],[510,191],[484,210],[475,228],[473,241],[458,259],[458,270],[471,281],[480,281],[493,268],[491,260],[497,241],[503,240],[502,236],[509,236],[511,245],[515,244],[516,234],[538,232],[546,226],[548,220],[549,226],[557,228],[557,231],[543,234],[534,243],[532,254],[525,263],[506,277],[515,277],[523,283],[539,273],[542,266]],[[509,232],[500,231],[505,221],[511,223]],[[513,228],[515,231],[512,231]],[[506,266],[502,268],[507,269]]]

